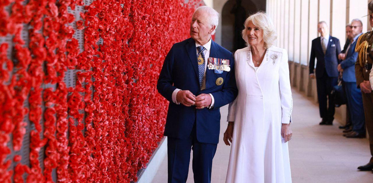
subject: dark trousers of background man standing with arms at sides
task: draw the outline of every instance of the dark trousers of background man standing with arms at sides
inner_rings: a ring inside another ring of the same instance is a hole
[[[324,72],[321,78],[316,78],[320,117],[322,117],[323,120],[329,120],[330,122],[333,122],[335,113],[334,99],[331,97],[330,92],[332,92],[333,86],[337,84],[338,78],[329,77],[326,72]],[[329,106],[327,106],[328,103]]]

